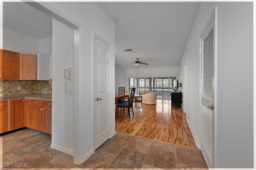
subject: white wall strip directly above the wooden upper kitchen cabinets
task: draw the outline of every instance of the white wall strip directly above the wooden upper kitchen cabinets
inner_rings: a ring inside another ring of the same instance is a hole
[[[3,49],[18,53],[39,52],[39,40],[3,28]]]

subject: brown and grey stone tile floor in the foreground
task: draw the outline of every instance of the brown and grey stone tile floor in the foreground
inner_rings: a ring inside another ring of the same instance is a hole
[[[50,148],[50,143],[50,135],[31,129],[4,135],[0,137],[0,160],[30,169],[208,169],[198,149],[122,133],[106,141],[80,165],[73,163],[73,156]]]

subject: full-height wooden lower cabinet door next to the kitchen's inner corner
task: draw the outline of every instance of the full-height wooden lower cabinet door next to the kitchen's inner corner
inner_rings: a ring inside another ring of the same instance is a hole
[[[24,127],[23,99],[10,100],[10,130]]]

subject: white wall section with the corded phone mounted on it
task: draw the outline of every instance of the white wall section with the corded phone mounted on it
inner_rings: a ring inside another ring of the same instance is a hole
[[[60,43],[63,42],[63,43]],[[64,69],[71,68],[73,86],[73,29],[52,20],[52,147],[73,154],[73,90],[65,93]]]

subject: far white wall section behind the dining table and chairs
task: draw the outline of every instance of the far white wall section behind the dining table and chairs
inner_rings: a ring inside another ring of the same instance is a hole
[[[126,69],[115,66],[115,93],[118,94],[118,87],[126,87]],[[128,87],[125,88],[129,91]]]

